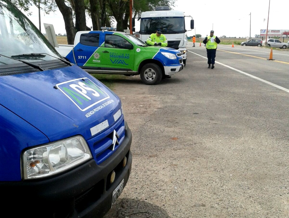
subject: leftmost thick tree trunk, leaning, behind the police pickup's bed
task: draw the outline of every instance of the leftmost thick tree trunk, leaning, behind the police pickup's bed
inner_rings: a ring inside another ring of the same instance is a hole
[[[73,23],[72,10],[64,3],[64,0],[55,0],[55,3],[63,16],[67,43],[73,45],[76,31]]]

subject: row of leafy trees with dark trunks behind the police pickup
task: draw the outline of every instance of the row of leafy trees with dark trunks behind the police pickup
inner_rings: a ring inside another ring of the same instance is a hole
[[[176,0],[139,0],[134,1],[133,18],[141,12],[154,10],[156,6],[167,5],[174,7]],[[92,29],[111,27],[116,23],[116,30],[129,29],[130,7],[129,0],[12,0],[12,2],[27,14],[31,15],[30,7],[38,3],[46,14],[60,10],[67,34],[68,44],[73,44],[77,31],[90,30],[86,26],[86,16],[92,20]]]

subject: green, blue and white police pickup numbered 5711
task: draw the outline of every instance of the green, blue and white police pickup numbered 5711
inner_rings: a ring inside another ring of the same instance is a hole
[[[56,50],[88,73],[140,75],[147,85],[158,84],[183,69],[180,51],[148,46],[131,34],[105,31],[109,28],[77,32],[74,45],[60,45]]]

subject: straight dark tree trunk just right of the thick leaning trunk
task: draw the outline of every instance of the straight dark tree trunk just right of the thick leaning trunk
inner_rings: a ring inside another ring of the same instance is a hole
[[[84,0],[74,0],[75,3],[75,29],[76,31],[86,30]]]

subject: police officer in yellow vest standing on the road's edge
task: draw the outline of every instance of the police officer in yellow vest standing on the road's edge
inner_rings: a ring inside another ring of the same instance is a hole
[[[203,43],[207,49],[207,57],[208,57],[208,68],[214,69],[215,58],[216,58],[216,51],[217,51],[217,44],[219,44],[221,40],[214,35],[214,30],[211,30],[210,36],[207,36]],[[212,66],[211,66],[212,64]]]

